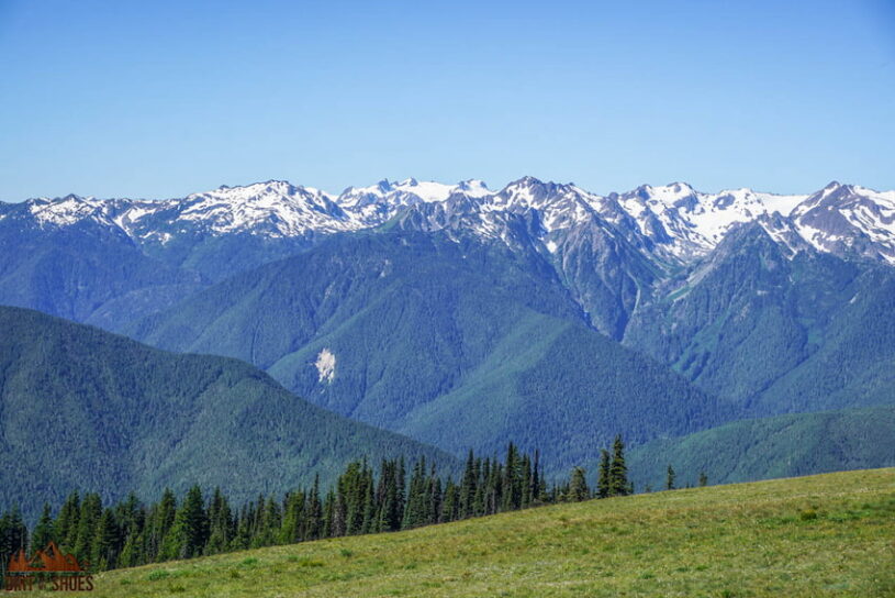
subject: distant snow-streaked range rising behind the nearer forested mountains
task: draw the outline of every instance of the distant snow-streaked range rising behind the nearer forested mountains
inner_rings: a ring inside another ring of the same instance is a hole
[[[672,184],[598,196],[532,177],[499,191],[478,180],[407,179],[335,196],[268,181],[161,201],[67,196],[0,203],[0,246],[10,248],[0,256],[0,276],[9,278],[0,279],[0,300],[119,329],[198,286],[395,218],[551,255],[592,324],[616,340],[657,281],[706,258],[739,223],[759,223],[790,253],[895,263],[895,191],[858,186],[774,196]],[[523,236],[511,230],[521,223]],[[90,272],[72,274],[79,266]]]

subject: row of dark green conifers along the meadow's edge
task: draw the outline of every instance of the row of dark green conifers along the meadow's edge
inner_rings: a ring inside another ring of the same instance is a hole
[[[105,571],[624,496],[634,491],[624,451],[620,436],[612,451],[602,451],[593,492],[581,467],[574,467],[568,480],[549,484],[538,452],[521,452],[513,443],[503,461],[470,451],[456,481],[443,480],[425,457],[410,468],[404,457],[383,459],[376,470],[363,458],[349,463],[325,491],[317,478],[311,487],[280,499],[261,495],[240,507],[220,488],[206,497],[199,486],[191,487],[181,501],[165,489],[152,505],[132,492],[104,506],[98,494],[74,491],[55,517],[44,505],[31,533],[18,507],[0,517],[0,566],[5,567],[19,550],[34,552],[51,541],[90,571]]]

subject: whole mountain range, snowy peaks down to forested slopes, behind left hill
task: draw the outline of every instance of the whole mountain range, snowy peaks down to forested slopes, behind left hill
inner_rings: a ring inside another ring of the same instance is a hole
[[[0,203],[0,303],[243,359],[454,454],[513,440],[553,474],[616,433],[648,451],[748,420],[756,446],[895,405],[895,191],[267,181]],[[849,466],[895,464],[877,449]],[[742,475],[807,467],[782,458]]]

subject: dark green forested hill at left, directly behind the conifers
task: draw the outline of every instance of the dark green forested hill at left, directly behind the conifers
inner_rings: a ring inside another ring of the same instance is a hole
[[[328,481],[350,459],[452,457],[346,420],[224,357],[176,355],[0,308],[0,505],[220,485],[239,500]]]

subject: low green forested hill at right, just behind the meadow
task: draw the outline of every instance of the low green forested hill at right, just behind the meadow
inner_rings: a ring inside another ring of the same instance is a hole
[[[664,487],[668,464],[678,486],[802,476],[895,466],[895,407],[847,409],[745,420],[634,447],[628,467],[637,488]],[[594,474],[596,464],[589,467]]]

